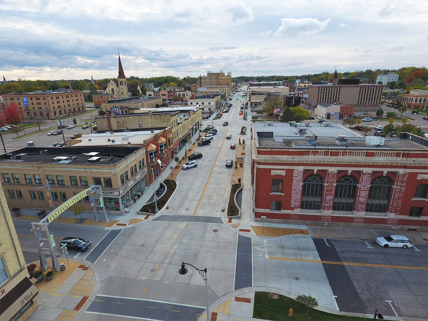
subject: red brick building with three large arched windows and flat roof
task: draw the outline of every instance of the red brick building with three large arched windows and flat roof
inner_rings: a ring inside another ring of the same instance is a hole
[[[428,140],[303,128],[253,124],[256,220],[428,230]]]

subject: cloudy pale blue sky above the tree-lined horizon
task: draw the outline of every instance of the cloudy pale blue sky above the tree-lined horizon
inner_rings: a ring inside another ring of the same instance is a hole
[[[6,80],[428,65],[426,0],[0,0]]]

